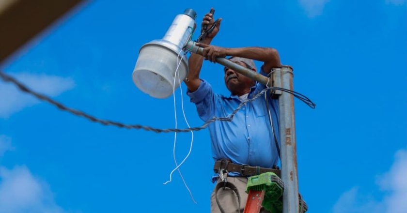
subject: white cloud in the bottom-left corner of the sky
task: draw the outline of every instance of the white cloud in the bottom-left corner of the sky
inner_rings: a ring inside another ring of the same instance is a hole
[[[0,212],[62,213],[47,184],[32,176],[25,166],[0,167]]]

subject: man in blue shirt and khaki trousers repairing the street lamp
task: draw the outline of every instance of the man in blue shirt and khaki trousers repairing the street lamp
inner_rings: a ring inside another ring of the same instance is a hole
[[[188,96],[195,103],[199,117],[207,121],[213,116],[226,117],[245,99],[252,98],[265,86],[256,83],[249,77],[243,76],[232,69],[224,68],[224,81],[227,89],[231,92],[230,97],[214,93],[210,84],[199,78],[203,59],[215,62],[217,57],[232,56],[230,59],[253,72],[256,67],[253,60],[263,61],[260,74],[267,76],[273,67],[279,67],[280,58],[273,48],[242,47],[223,48],[211,46],[210,43],[219,32],[221,19],[216,21],[214,30],[203,39],[198,46],[204,48],[203,56],[192,54],[189,58],[189,74],[185,80],[188,88]],[[202,26],[209,27],[215,23],[213,15],[207,13],[203,17]],[[208,27],[208,28],[209,28]],[[202,27],[203,28],[203,27]],[[267,96],[270,107],[274,133],[278,137],[278,100]],[[250,165],[254,167],[272,168],[277,165],[278,152],[274,141],[272,128],[268,118],[265,98],[257,98],[248,102],[238,111],[232,122],[212,122],[208,126],[212,140],[212,154],[215,161],[223,159],[237,165]],[[239,167],[241,168],[241,167]],[[243,168],[243,167],[242,167]],[[241,171],[241,170],[240,170]],[[226,174],[227,175],[227,174]],[[252,174],[254,175],[254,174]],[[218,178],[218,184],[221,180]],[[247,177],[241,176],[241,172],[229,171],[227,182],[233,183],[241,197],[241,210],[244,208],[247,194],[245,193]],[[220,212],[216,201],[224,212],[236,212],[238,205],[235,193],[230,188],[221,187],[219,191],[214,189],[211,195],[211,212]],[[265,211],[265,210],[262,210]],[[240,211],[239,211],[240,212]]]

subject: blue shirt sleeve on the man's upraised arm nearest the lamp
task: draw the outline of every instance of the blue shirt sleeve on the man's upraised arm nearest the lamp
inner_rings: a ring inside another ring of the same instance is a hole
[[[206,122],[215,115],[217,95],[214,94],[211,85],[201,79],[196,91],[187,91],[190,101],[195,104],[199,117]]]

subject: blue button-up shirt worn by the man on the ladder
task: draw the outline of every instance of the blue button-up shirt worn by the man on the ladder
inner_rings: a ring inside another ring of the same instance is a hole
[[[260,74],[266,76],[263,67]],[[265,86],[256,83],[250,90],[252,98]],[[195,103],[199,117],[207,121],[213,116],[226,117],[241,103],[236,95],[225,97],[213,92],[211,85],[202,80],[198,89],[187,92]],[[278,100],[267,96],[276,137],[279,138]],[[208,125],[214,160],[230,159],[236,164],[273,167],[277,165],[278,153],[268,120],[264,96],[248,102],[233,117],[232,122],[212,122]]]

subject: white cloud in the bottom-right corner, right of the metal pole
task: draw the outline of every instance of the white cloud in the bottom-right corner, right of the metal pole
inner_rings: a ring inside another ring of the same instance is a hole
[[[344,192],[332,208],[333,213],[405,213],[407,209],[407,150],[396,152],[390,170],[379,176],[376,200],[357,187]]]

